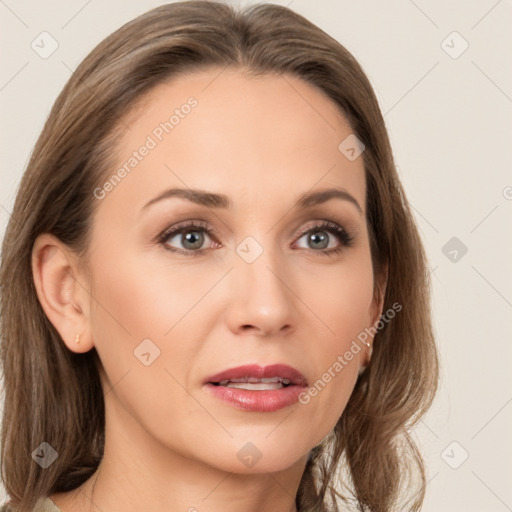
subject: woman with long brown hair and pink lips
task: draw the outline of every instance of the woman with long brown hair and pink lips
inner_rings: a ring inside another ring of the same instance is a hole
[[[4,510],[419,510],[426,270],[338,42],[270,4],[127,23],[7,227]]]

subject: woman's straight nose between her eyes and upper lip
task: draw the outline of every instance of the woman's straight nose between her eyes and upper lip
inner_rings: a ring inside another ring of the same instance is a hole
[[[226,311],[233,333],[272,337],[295,328],[297,297],[292,272],[285,263],[270,250],[264,250],[252,263],[238,258],[230,272]]]

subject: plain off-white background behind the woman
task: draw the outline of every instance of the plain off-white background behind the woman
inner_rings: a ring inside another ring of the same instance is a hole
[[[0,0],[0,234],[72,70],[162,3]],[[276,3],[362,64],[427,249],[442,377],[415,430],[429,479],[424,510],[512,510],[512,2]],[[58,43],[45,59],[31,47],[44,31]]]

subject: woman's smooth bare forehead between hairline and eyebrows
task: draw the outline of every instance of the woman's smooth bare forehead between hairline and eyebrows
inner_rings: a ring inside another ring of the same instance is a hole
[[[129,204],[164,186],[222,192],[246,204],[338,186],[364,208],[363,159],[350,161],[339,149],[352,134],[348,121],[298,77],[231,68],[187,73],[146,94],[125,125],[113,171],[128,172],[110,195]]]

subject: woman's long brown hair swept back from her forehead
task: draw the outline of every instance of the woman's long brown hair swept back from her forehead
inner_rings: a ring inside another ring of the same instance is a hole
[[[0,267],[4,410],[1,475],[12,510],[75,489],[104,449],[101,361],[70,351],[36,294],[31,255],[51,233],[87,261],[93,190],[112,172],[124,119],[158,84],[205,68],[291,75],[323,91],[364,143],[366,215],[375,293],[403,312],[374,338],[373,355],[328,438],[309,455],[300,511],[419,510],[426,475],[410,429],[431,406],[438,355],[425,251],[393,160],[375,93],[355,58],[304,17],[274,4],[162,5],[126,23],[81,62],[57,97],[22,177]],[[387,286],[381,277],[387,267]],[[58,452],[46,469],[41,442]],[[414,483],[414,485],[412,485]]]

